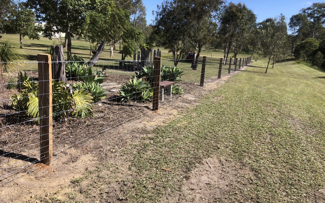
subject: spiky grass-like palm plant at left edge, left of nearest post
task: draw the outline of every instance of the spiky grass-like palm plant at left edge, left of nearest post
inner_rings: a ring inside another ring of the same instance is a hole
[[[0,60],[1,62],[4,62],[5,72],[7,72],[9,67],[15,67],[11,66],[8,62],[22,61],[26,59],[27,57],[25,54],[19,53],[13,48],[12,42],[7,40],[0,44]]]

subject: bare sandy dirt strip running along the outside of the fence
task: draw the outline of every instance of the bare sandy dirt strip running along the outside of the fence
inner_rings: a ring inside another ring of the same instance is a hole
[[[83,185],[89,185],[93,181],[92,178],[84,181],[85,177],[88,179],[94,175],[98,177],[98,174],[106,177],[105,180],[107,182],[102,183],[104,186],[95,184],[93,188],[96,188],[96,192],[92,191],[89,195],[96,199],[100,193],[109,194],[107,195],[107,199],[103,199],[103,202],[115,202],[116,199],[120,201],[125,200],[121,196],[123,194],[123,185],[121,184],[123,179],[132,176],[132,171],[128,170],[128,158],[130,156],[124,154],[123,149],[129,144],[137,143],[149,130],[164,125],[184,114],[188,109],[195,107],[203,95],[209,94],[212,90],[218,88],[219,85],[225,83],[230,77],[238,73],[240,71],[223,76],[221,80],[207,80],[204,87],[198,87],[180,97],[174,97],[172,102],[164,102],[158,112],[154,113],[149,111],[146,112],[145,116],[139,115],[134,121],[120,126],[113,131],[106,132],[101,137],[81,147],[65,152],[63,156],[60,155],[61,157],[54,162],[53,169],[42,167],[42,169],[25,174],[3,186],[0,191],[0,202],[40,202],[50,198],[52,198],[52,202],[55,202],[57,200],[53,199],[54,196],[56,196],[55,198],[68,197],[68,199],[77,200],[78,197],[71,195],[74,194],[73,191],[78,190],[82,194],[83,191],[80,188],[83,188]],[[210,168],[212,170],[208,170],[207,172],[211,172],[210,175],[214,176],[215,170],[219,170],[217,168],[219,168],[220,163],[214,158],[208,159],[206,163],[209,163],[209,165],[202,166],[202,170],[204,171],[207,167],[211,167],[211,163],[214,165],[214,168]],[[99,165],[103,167],[98,168]],[[202,180],[202,170],[200,170],[193,173],[194,179],[197,179],[195,178],[196,176],[200,176],[198,179]],[[210,175],[208,174],[208,176]],[[213,179],[215,181],[222,181],[216,180],[220,177],[215,176]],[[72,182],[80,182],[80,184],[71,185]],[[198,199],[200,195],[194,194],[195,190],[192,190],[191,187],[198,188],[201,184],[206,183],[202,181],[189,181],[184,185],[184,194],[180,194],[179,196],[186,199],[188,194],[192,193],[190,194],[190,198]],[[205,195],[209,195],[208,193],[207,191]]]

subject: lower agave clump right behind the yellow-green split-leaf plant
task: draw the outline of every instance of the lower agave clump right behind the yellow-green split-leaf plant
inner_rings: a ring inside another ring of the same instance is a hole
[[[98,82],[78,82],[73,85],[74,89],[85,89],[90,92],[95,103],[106,98],[107,91],[104,90],[103,87],[104,86]]]

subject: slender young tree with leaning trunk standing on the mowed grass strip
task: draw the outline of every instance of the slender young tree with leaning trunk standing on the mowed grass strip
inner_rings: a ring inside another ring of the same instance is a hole
[[[273,19],[266,19],[259,23],[258,29],[262,32],[262,56],[268,58],[266,73],[271,58],[275,58],[275,53],[285,48],[282,45],[287,40],[287,24],[285,22],[285,17],[281,14],[279,17]]]

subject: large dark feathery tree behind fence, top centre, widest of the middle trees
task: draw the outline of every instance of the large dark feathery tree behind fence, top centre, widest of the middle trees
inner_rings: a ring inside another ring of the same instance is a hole
[[[221,3],[220,0],[173,0],[158,6],[155,33],[162,46],[173,54],[175,66],[188,51],[200,49],[201,52],[203,42],[215,30],[210,26],[215,24],[214,16]]]

